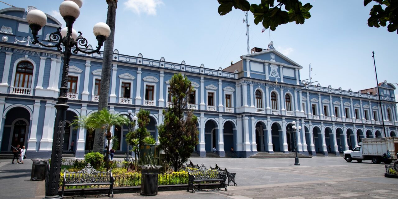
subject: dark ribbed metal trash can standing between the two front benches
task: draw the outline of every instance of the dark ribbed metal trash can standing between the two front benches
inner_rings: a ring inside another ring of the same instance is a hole
[[[162,166],[154,164],[141,167],[141,195],[158,195],[158,174]]]

